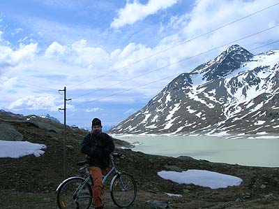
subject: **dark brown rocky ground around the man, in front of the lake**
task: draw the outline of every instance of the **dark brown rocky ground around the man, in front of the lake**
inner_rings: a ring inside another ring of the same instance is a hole
[[[3,120],[0,124],[12,125],[23,140],[47,145],[41,157],[33,155],[19,159],[0,158],[0,208],[57,208],[56,187],[63,180],[63,134],[41,124],[18,120]],[[39,125],[38,125],[39,124]],[[80,140],[86,134],[68,129],[67,176],[83,175],[76,162],[83,160]],[[211,163],[190,157],[162,157],[123,150],[124,144],[115,140],[116,152],[126,159],[116,161],[121,171],[131,173],[138,188],[135,204],[130,208],[279,208],[279,168],[239,166]],[[163,180],[158,171],[186,171],[202,169],[234,175],[243,179],[239,187],[210,189]],[[106,189],[108,191],[108,189]],[[181,194],[182,197],[167,196]],[[105,208],[116,208],[105,193]]]

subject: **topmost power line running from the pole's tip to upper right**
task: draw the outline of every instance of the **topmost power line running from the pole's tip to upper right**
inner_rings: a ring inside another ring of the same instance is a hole
[[[250,15],[246,15],[246,16],[244,16],[244,17],[241,17],[241,18],[239,18],[239,19],[237,19],[237,20],[234,20],[234,21],[232,21],[232,22],[229,22],[229,23],[227,23],[227,24],[223,24],[223,26],[220,26],[220,27],[218,27],[218,28],[216,28],[216,29],[213,29],[213,30],[211,30],[211,31],[207,31],[207,32],[204,33],[204,34],[201,34],[201,35],[199,35],[199,36],[195,36],[194,38],[190,38],[190,39],[188,39],[188,40],[186,40],[186,41],[183,41],[183,42],[181,42],[181,43],[177,43],[176,45],[173,45],[173,46],[170,47],[170,48],[167,48],[167,49],[162,50],[162,51],[160,51],[160,52],[157,52],[157,53],[155,53],[155,54],[153,54],[153,55],[150,55],[150,56],[144,57],[144,58],[142,58],[142,59],[139,59],[139,60],[137,60],[137,61],[135,61],[135,62],[132,62],[132,63],[126,65],[126,66],[122,66],[122,67],[120,67],[120,68],[118,68],[118,69],[114,69],[114,70],[112,70],[112,71],[109,71],[109,72],[107,72],[107,73],[105,73],[105,74],[103,74],[103,75],[99,75],[99,76],[97,76],[97,77],[95,77],[95,78],[92,78],[92,79],[90,79],[90,80],[86,80],[86,81],[81,82],[81,83],[79,83],[79,84],[77,84],[77,85],[73,85],[73,86],[71,86],[71,87],[68,87],[68,89],[71,89],[71,88],[73,88],[73,87],[77,87],[77,86],[79,86],[79,85],[83,85],[84,83],[90,82],[91,80],[95,80],[95,79],[97,79],[97,78],[102,78],[102,77],[104,77],[105,75],[108,75],[108,74],[110,74],[110,73],[114,73],[114,72],[119,71],[119,70],[121,70],[121,69],[125,69],[126,67],[131,66],[131,65],[133,65],[133,64],[137,64],[137,63],[142,62],[142,61],[144,61],[144,60],[146,60],[146,59],[149,59],[149,58],[151,58],[151,57],[155,57],[156,55],[160,55],[160,54],[162,54],[163,52],[167,52],[168,50],[172,50],[173,48],[176,48],[176,47],[179,46],[179,45],[183,45],[184,43],[188,43],[188,42],[193,41],[193,40],[195,40],[195,39],[197,39],[197,38],[200,38],[200,37],[202,37],[202,36],[205,36],[205,35],[207,35],[207,34],[211,34],[213,31],[217,31],[217,30],[219,30],[219,29],[222,29],[223,27],[229,26],[230,24],[234,24],[235,22],[239,22],[239,21],[241,21],[241,20],[244,20],[244,19],[246,19],[246,18],[248,18],[248,17],[251,17],[252,15],[256,15],[257,13],[261,13],[261,12],[263,12],[264,10],[267,10],[267,9],[269,9],[269,8],[272,8],[272,7],[274,7],[274,6],[277,6],[278,4],[279,4],[279,3],[275,3],[275,4],[271,5],[271,6],[268,6],[268,7],[266,7],[266,8],[263,8],[262,10],[256,11],[255,13],[251,13]]]

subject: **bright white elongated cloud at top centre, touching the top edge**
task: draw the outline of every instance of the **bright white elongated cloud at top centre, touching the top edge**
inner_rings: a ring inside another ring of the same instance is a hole
[[[126,24],[134,24],[139,20],[144,20],[149,15],[157,13],[158,10],[173,6],[177,2],[178,0],[149,0],[145,5],[136,0],[133,3],[127,2],[125,8],[118,11],[118,17],[114,18],[110,27],[117,29]]]

